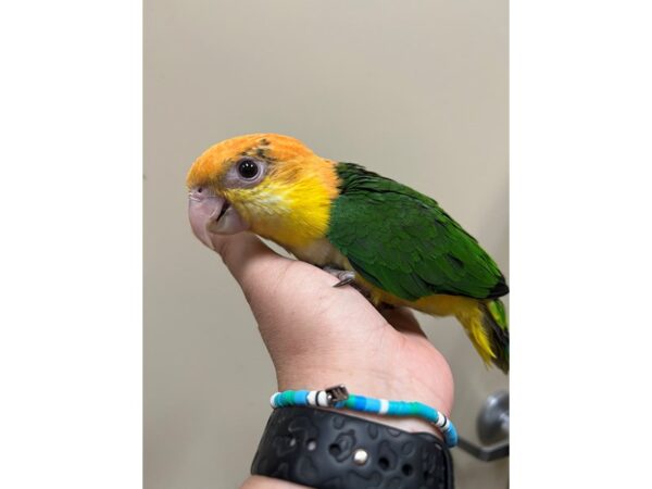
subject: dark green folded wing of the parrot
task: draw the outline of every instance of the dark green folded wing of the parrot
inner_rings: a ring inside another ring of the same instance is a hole
[[[493,260],[435,200],[353,163],[337,172],[327,236],[366,280],[410,301],[509,292]]]

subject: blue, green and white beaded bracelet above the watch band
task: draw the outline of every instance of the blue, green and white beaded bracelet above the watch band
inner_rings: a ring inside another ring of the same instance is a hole
[[[457,430],[453,423],[435,408],[421,402],[388,401],[349,393],[343,385],[325,390],[286,390],[276,392],[269,399],[272,408],[290,405],[313,405],[316,408],[336,408],[387,416],[414,416],[432,423],[443,435],[446,444],[457,444]]]

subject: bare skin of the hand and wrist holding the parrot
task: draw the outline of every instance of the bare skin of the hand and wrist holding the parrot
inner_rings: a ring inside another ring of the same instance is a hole
[[[449,415],[453,377],[409,310],[378,312],[353,287],[308,263],[280,256],[258,237],[212,236],[255,316],[279,390],[321,390],[344,384],[363,396],[421,401]],[[416,418],[369,416],[406,431],[439,436]],[[261,476],[243,489],[302,488]]]

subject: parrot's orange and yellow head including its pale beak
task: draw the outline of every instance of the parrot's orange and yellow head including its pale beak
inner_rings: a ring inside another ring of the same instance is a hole
[[[338,195],[335,163],[275,134],[238,136],[209,148],[190,167],[195,235],[251,230],[286,247],[324,237]]]

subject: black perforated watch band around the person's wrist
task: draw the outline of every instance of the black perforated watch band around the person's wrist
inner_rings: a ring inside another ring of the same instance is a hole
[[[443,442],[315,408],[274,410],[251,474],[317,489],[453,488]]]

